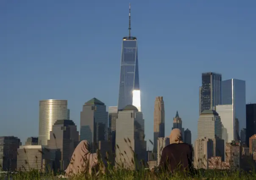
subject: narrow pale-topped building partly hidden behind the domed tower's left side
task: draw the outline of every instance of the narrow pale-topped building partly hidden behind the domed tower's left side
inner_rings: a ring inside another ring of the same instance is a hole
[[[109,106],[109,141],[111,142],[111,153],[114,154],[116,143],[116,121],[118,116],[117,106]]]

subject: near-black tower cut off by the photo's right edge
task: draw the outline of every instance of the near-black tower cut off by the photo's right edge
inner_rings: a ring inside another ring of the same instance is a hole
[[[256,104],[246,104],[246,145],[249,138],[256,134]]]

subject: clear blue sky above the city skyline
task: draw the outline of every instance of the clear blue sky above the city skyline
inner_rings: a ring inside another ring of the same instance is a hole
[[[256,103],[255,0],[1,0],[0,136],[38,136],[42,99],[67,99],[78,129],[89,99],[117,105],[130,2],[146,139],[156,96],[165,134],[178,110],[196,139],[202,72],[246,80]]]

